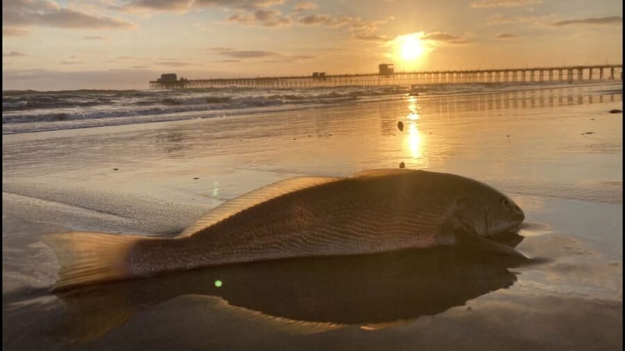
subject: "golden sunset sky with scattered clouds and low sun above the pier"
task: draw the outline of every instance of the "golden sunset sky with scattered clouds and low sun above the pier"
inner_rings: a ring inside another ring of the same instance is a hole
[[[3,89],[621,64],[621,0],[3,0]]]

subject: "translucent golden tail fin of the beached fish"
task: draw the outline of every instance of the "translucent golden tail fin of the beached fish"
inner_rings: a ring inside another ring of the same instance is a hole
[[[132,277],[128,256],[140,241],[138,235],[65,232],[42,237],[56,253],[60,268],[54,290]]]

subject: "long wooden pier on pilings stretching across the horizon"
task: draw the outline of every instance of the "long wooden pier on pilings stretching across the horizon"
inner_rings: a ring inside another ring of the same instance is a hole
[[[623,65],[585,65],[456,71],[407,71],[394,74],[335,74],[258,78],[153,80],[150,89],[204,89],[213,87],[310,88],[467,83],[569,82],[622,80]]]

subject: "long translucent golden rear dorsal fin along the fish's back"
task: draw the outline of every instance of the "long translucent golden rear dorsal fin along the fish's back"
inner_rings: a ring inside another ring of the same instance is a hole
[[[197,221],[193,222],[188,228],[183,230],[178,237],[188,237],[199,232],[200,230],[203,230],[204,228],[210,227],[210,225],[223,221],[234,214],[238,214],[244,209],[264,203],[272,198],[277,198],[278,196],[289,194],[293,191],[316,187],[317,185],[335,182],[341,179],[343,178],[298,177],[281,180],[280,182],[256,189],[211,209],[210,212],[197,219]]]

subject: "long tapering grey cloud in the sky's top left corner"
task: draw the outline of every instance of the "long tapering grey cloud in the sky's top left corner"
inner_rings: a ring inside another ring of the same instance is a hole
[[[2,22],[8,26],[56,28],[131,29],[136,25],[125,19],[95,16],[63,8],[53,0],[3,0]]]

